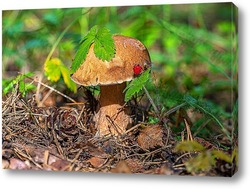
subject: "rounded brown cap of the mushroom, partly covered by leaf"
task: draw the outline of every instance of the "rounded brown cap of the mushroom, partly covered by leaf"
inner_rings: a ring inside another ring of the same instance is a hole
[[[94,44],[83,64],[71,75],[71,79],[84,86],[111,85],[131,81],[133,68],[140,65],[143,70],[151,66],[146,47],[137,39],[114,35],[116,53],[111,61],[102,61],[95,56]]]

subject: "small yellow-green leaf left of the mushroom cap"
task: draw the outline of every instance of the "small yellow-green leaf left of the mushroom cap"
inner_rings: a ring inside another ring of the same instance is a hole
[[[51,60],[45,62],[44,71],[48,80],[57,82],[61,77],[60,66],[62,62],[59,58],[52,58]]]

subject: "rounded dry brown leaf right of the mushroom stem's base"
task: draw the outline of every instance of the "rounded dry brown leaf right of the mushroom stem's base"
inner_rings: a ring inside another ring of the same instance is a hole
[[[149,150],[157,146],[164,146],[162,137],[162,127],[160,125],[150,125],[141,131],[137,142],[143,150]]]

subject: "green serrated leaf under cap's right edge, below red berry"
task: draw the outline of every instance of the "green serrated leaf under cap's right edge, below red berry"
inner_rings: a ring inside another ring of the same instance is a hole
[[[128,102],[136,93],[142,90],[144,84],[149,79],[150,69],[147,69],[139,77],[131,81],[128,86],[124,89],[125,93],[125,102]]]

